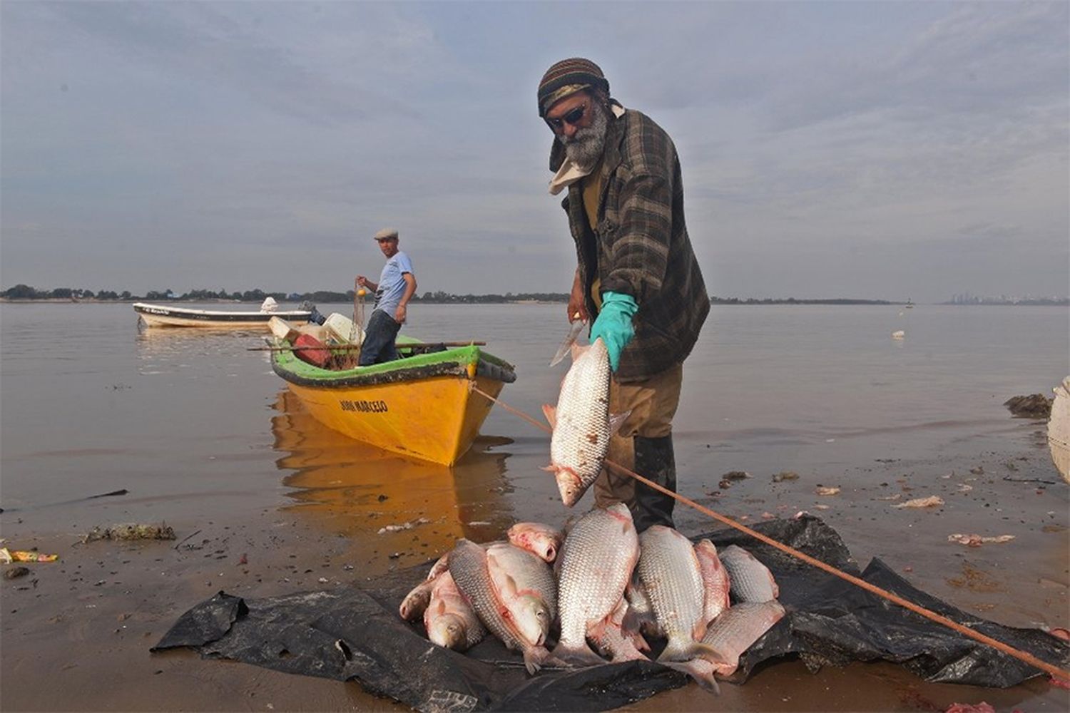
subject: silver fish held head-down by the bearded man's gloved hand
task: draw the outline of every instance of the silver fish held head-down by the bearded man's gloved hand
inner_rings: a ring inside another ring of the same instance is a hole
[[[609,353],[601,339],[572,345],[572,366],[561,383],[557,405],[542,406],[553,428],[550,465],[565,507],[576,505],[601,471],[614,430],[609,415]],[[623,418],[614,420],[618,425]]]

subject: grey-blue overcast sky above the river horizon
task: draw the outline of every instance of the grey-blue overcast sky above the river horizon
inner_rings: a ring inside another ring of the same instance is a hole
[[[566,292],[535,89],[663,126],[710,295],[1070,292],[1070,3],[0,4],[0,286]]]

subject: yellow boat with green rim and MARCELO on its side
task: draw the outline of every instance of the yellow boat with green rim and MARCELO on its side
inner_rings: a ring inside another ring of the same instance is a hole
[[[356,440],[453,465],[479,433],[513,366],[478,346],[438,347],[398,339],[396,361],[335,371],[296,358],[274,340],[272,368],[316,420]]]

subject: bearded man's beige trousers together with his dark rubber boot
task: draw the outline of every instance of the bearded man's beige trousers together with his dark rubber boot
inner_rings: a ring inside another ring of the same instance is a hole
[[[674,493],[672,419],[679,404],[683,378],[683,366],[676,365],[639,384],[622,385],[614,379],[609,394],[611,414],[630,413],[617,434],[610,438],[607,458]],[[599,507],[626,503],[639,532],[651,525],[673,527],[676,500],[631,476],[603,468],[594,491]]]

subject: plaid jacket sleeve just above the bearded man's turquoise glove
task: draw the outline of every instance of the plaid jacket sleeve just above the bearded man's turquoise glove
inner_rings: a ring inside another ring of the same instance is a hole
[[[608,227],[610,265],[602,291],[631,295],[642,305],[661,290],[672,236],[672,183],[663,174],[623,176],[620,224]]]

